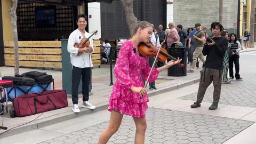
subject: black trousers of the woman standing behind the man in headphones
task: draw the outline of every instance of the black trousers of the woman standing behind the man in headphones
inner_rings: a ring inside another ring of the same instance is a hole
[[[228,60],[228,64],[229,64],[229,77],[232,77],[232,78],[234,78],[233,63],[235,63],[235,68],[236,68],[235,77],[236,78],[240,78],[240,75],[239,75],[239,55],[234,54]]]

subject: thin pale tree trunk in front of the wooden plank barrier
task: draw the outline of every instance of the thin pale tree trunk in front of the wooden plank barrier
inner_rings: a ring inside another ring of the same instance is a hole
[[[11,15],[11,22],[12,22],[12,31],[13,31],[13,42],[14,42],[14,74],[18,75],[19,74],[19,52],[18,52],[18,32],[17,32],[17,15],[16,15],[16,9],[18,5],[18,0],[12,0],[13,6],[11,9],[8,10]]]

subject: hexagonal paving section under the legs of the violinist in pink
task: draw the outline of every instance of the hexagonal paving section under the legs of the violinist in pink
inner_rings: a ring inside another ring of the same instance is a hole
[[[222,143],[234,137],[254,122],[225,117],[193,114],[182,111],[149,108],[146,114],[145,143]],[[109,121],[87,127],[40,144],[97,143]],[[134,143],[135,124],[124,116],[120,129],[109,140],[112,143]]]

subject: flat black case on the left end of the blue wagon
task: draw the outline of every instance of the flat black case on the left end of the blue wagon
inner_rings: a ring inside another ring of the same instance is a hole
[[[3,80],[10,80],[13,82],[13,85],[27,85],[33,86],[35,85],[35,79],[28,77],[16,77],[16,76],[4,76]]]

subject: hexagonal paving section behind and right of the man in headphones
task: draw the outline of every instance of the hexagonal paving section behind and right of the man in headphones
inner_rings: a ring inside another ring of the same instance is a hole
[[[219,103],[233,106],[256,107],[256,74],[243,73],[241,77],[243,77],[244,81],[233,80],[233,84],[222,84]],[[206,90],[203,101],[213,101],[213,89],[214,87],[209,87]],[[181,97],[180,99],[196,101],[196,97],[197,92]]]

